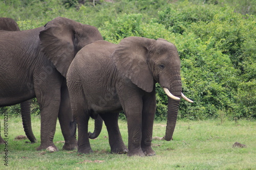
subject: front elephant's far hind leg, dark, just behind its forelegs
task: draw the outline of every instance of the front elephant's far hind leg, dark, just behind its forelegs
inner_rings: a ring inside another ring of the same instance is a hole
[[[104,120],[106,129],[109,133],[109,143],[112,153],[127,153],[128,149],[123,143],[122,136],[118,126],[118,113],[104,113],[100,114],[101,118]]]

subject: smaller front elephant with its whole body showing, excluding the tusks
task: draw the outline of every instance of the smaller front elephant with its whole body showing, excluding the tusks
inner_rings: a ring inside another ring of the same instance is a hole
[[[96,41],[83,47],[67,74],[73,114],[78,127],[78,152],[92,152],[88,119],[100,114],[109,133],[111,152],[125,153],[118,115],[124,110],[129,133],[129,156],[155,155],[151,147],[156,110],[156,87],[181,98],[180,58],[164,39],[124,38],[113,44]],[[180,100],[168,99],[165,138],[172,138]]]

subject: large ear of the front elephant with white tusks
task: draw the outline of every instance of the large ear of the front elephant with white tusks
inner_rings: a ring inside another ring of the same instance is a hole
[[[124,38],[112,54],[118,71],[147,92],[151,92],[154,87],[148,56],[155,41],[142,37]]]

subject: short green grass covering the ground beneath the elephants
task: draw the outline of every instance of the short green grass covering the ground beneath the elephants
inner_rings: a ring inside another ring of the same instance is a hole
[[[1,134],[4,133],[4,117]],[[256,123],[246,120],[229,122],[221,120],[178,120],[174,140],[153,140],[153,157],[128,157],[110,154],[108,134],[103,126],[97,139],[91,140],[94,153],[77,154],[62,151],[63,137],[57,124],[54,142],[58,152],[36,151],[40,140],[40,119],[33,116],[32,126],[38,140],[14,140],[25,135],[20,117],[8,117],[8,166],[4,165],[5,145],[0,146],[0,169],[256,169]],[[127,124],[120,122],[120,130],[127,144]],[[93,122],[90,121],[93,130]],[[154,134],[163,137],[165,122],[155,122]],[[246,148],[233,148],[234,142]]]

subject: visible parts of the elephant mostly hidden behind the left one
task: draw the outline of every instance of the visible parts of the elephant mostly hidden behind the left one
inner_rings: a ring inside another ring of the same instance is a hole
[[[6,31],[20,31],[17,23],[12,18],[1,18],[0,17],[0,30]],[[36,138],[33,134],[31,127],[31,116],[30,116],[30,100],[20,103],[20,109],[23,120],[23,127],[25,134],[31,143],[36,142]],[[4,143],[5,140],[0,136],[0,144]]]

